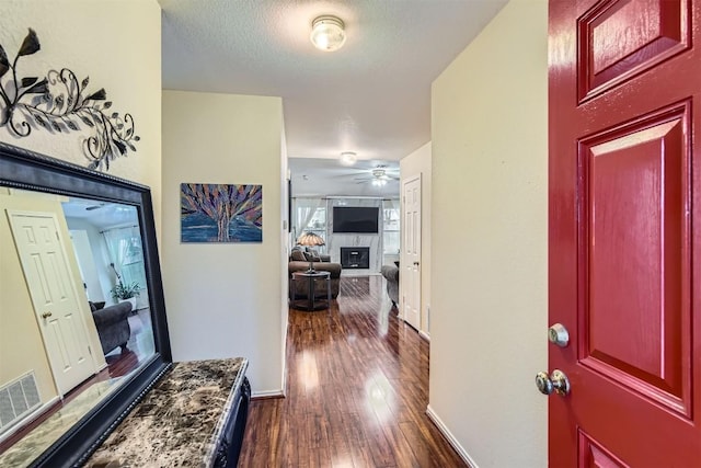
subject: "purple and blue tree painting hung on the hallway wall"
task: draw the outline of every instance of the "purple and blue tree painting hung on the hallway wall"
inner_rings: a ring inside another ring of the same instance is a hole
[[[181,184],[183,242],[262,242],[263,186]]]

